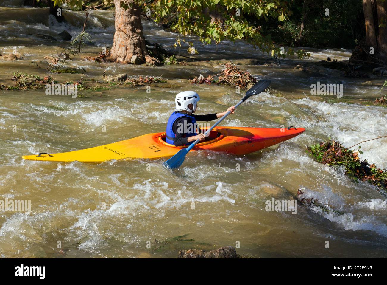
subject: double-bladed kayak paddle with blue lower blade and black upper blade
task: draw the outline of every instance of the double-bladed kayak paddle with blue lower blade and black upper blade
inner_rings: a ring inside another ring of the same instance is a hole
[[[245,94],[245,97],[243,97],[239,102],[238,104],[235,105],[235,109],[236,107],[238,107],[240,104],[242,104],[243,102],[245,102],[247,100],[248,97],[250,96],[253,96],[253,95],[257,95],[259,93],[262,93],[265,91],[265,89],[267,87],[269,87],[271,81],[270,80],[260,80],[258,83],[256,83],[252,88],[250,88],[249,90],[247,90],[246,94]],[[211,128],[209,128],[205,133],[204,135],[207,136],[207,134],[210,133],[210,131],[212,131],[221,121],[223,121],[229,114],[231,113],[231,111],[228,111],[226,114],[224,114],[223,117],[221,117],[219,119],[219,121],[217,121]],[[193,142],[192,144],[190,144],[186,149],[181,149],[179,150],[175,155],[173,155],[173,157],[171,157],[170,159],[168,159],[166,162],[164,162],[164,166],[166,167],[170,167],[170,168],[178,168],[180,165],[183,164],[184,162],[184,159],[185,159],[185,155],[187,155],[187,153],[198,143],[200,142],[199,139],[195,140],[195,142]]]

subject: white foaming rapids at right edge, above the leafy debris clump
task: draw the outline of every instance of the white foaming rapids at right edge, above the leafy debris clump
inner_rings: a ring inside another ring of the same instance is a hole
[[[305,120],[299,119],[300,125],[308,126],[309,131],[314,133],[324,133],[327,137],[330,136],[342,143],[344,147],[385,135],[387,122],[385,108],[344,103],[328,104],[308,98],[292,102],[310,106],[313,114],[319,116],[313,121],[310,116]],[[387,138],[361,143],[361,150],[364,152],[361,158],[377,164],[378,167],[386,168],[385,145],[387,145]]]

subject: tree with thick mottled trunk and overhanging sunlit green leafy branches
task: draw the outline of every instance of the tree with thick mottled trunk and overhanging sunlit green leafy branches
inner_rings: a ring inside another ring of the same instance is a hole
[[[159,23],[165,22],[168,18],[169,28],[178,33],[175,47],[185,45],[190,54],[197,54],[197,50],[192,42],[186,41],[183,37],[192,34],[199,36],[204,44],[218,44],[223,40],[246,40],[254,47],[272,55],[283,57],[285,54],[296,54],[300,58],[309,56],[302,49],[282,50],[274,45],[270,35],[262,33],[262,26],[252,21],[252,19],[257,21],[273,19],[284,22],[292,14],[290,3],[287,1],[106,0],[103,2],[104,5],[111,3],[114,3],[115,6],[116,31],[110,50],[110,61],[122,64],[158,65],[160,63],[159,59],[152,56],[150,48],[146,45],[142,33],[142,12]],[[83,5],[81,0],[58,0],[51,5],[53,11],[63,4],[78,9],[81,9]],[[99,5],[101,4],[92,7],[96,8]],[[171,15],[174,17],[170,17]]]

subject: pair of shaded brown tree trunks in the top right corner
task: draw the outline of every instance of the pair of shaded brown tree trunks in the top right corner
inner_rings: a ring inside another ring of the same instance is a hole
[[[387,64],[387,28],[385,27],[387,1],[363,0],[366,51],[374,49],[375,59]],[[380,26],[382,24],[382,26]]]

